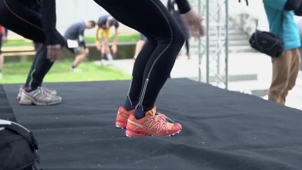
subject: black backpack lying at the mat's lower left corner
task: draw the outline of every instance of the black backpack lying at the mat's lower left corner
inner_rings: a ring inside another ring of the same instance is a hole
[[[0,170],[37,170],[38,143],[25,127],[0,119]]]

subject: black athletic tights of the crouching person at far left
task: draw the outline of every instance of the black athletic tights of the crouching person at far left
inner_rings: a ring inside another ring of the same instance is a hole
[[[0,25],[34,42],[45,43],[41,15],[19,0],[0,0],[0,16]],[[56,33],[56,36],[62,37],[60,44],[64,47],[63,36],[58,31]],[[43,45],[35,55],[25,87],[36,89],[41,86],[52,65],[47,59],[47,47]]]

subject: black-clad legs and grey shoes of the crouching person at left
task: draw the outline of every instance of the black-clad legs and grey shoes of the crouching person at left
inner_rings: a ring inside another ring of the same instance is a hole
[[[2,16],[0,17],[0,24],[9,30],[34,42],[42,44],[45,42],[41,15],[23,6],[19,0],[0,0],[0,15]],[[58,31],[56,31],[56,34],[60,37],[60,43],[63,47],[65,44],[64,38]],[[23,90],[23,86],[19,89],[17,99],[20,100],[21,104],[49,105],[61,102],[61,97],[47,97],[44,93],[48,91],[48,94],[56,94],[56,91],[38,88],[53,65],[52,62],[47,60],[46,54],[47,48],[45,45],[36,53],[25,84],[26,90]]]

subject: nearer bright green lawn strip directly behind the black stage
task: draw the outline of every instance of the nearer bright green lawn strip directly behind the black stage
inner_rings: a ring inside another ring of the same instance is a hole
[[[70,72],[71,65],[72,62],[69,61],[55,63],[46,75],[44,82],[89,82],[131,79],[130,75],[124,74],[120,70],[106,66],[96,66],[92,62],[84,62],[79,65],[78,68],[84,70],[82,73]],[[30,66],[30,62],[5,63],[0,84],[24,83]]]

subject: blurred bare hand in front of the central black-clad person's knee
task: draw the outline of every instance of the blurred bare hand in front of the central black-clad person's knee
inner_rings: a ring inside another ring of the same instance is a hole
[[[184,22],[193,37],[202,37],[206,34],[206,28],[202,25],[203,19],[191,9],[189,12],[182,14]]]

